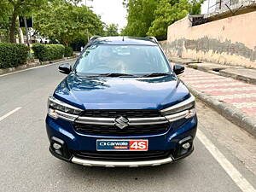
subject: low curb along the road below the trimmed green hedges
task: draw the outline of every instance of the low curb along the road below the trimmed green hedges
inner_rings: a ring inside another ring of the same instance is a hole
[[[18,67],[9,67],[9,68],[4,68],[4,69],[0,68],[0,76],[8,74],[8,73],[19,72],[19,71],[22,71],[22,70],[25,70],[25,69],[28,69],[28,68],[32,68],[32,67],[46,66],[47,64],[52,64],[52,63],[55,63],[55,62],[70,61],[70,60],[73,60],[77,57],[78,57],[78,55],[75,55],[73,57],[65,57],[63,59],[54,60],[54,61],[30,62],[30,63],[26,63],[25,65],[21,65],[21,66],[18,66]]]

